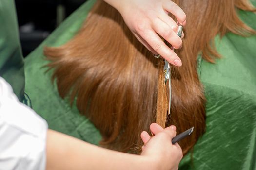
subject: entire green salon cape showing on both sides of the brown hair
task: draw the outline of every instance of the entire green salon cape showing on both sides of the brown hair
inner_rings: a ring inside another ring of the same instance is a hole
[[[47,63],[43,46],[68,41],[94,1],[81,6],[26,58],[25,91],[50,128],[96,144],[100,140],[98,130],[59,97],[50,81],[52,72],[45,73],[47,68],[42,68]],[[240,16],[256,29],[256,14],[241,12]],[[227,34],[221,40],[216,37],[216,46],[222,55],[216,64],[198,60],[207,98],[206,133],[194,147],[193,163],[188,154],[180,170],[256,170],[256,36]]]

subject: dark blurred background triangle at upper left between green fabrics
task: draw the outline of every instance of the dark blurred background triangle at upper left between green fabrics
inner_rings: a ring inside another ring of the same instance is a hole
[[[15,0],[23,56],[27,56],[86,0]]]

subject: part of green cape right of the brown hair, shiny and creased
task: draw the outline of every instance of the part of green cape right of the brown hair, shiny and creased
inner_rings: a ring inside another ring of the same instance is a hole
[[[240,12],[256,30],[256,14]],[[256,170],[256,36],[215,38],[222,58],[199,63],[207,99],[206,133],[179,170]]]

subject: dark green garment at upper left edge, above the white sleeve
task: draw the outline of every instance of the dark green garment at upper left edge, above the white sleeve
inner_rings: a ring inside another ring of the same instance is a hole
[[[14,0],[0,0],[0,76],[23,100],[25,78]]]

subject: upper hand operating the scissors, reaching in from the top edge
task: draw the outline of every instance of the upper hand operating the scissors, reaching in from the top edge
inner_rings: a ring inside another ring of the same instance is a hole
[[[161,40],[160,36],[178,49],[182,40],[177,36],[178,25],[168,16],[173,14],[178,22],[186,24],[186,15],[171,0],[105,0],[115,7],[138,40],[152,53],[159,54],[169,63],[181,66],[181,60]],[[160,36],[159,36],[159,35]]]

